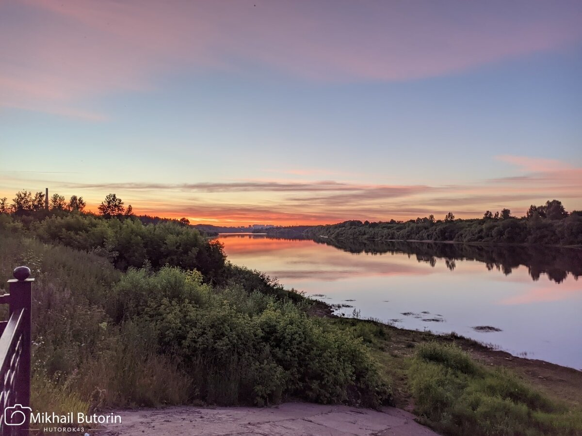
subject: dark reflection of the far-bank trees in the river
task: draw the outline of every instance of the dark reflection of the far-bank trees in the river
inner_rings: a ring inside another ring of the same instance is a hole
[[[419,262],[431,267],[437,264],[437,258],[445,259],[446,267],[453,271],[457,260],[475,260],[485,264],[489,271],[494,268],[509,275],[514,268],[524,265],[532,279],[538,280],[541,274],[560,283],[568,274],[574,278],[582,275],[582,250],[558,247],[502,246],[452,244],[439,242],[406,241],[361,241],[315,239],[315,242],[331,245],[349,253],[404,253],[416,256]]]

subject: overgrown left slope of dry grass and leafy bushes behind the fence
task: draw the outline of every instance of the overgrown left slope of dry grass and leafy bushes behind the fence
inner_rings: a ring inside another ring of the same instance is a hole
[[[228,263],[213,279],[168,265],[122,271],[103,253],[44,240],[15,222],[0,229],[0,288],[16,265],[36,278],[39,412],[390,400],[361,339],[309,317],[306,299],[265,275]]]

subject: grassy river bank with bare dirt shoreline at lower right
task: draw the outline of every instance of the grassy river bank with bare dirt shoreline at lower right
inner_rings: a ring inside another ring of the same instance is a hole
[[[582,372],[462,336],[332,318],[379,361],[395,405],[446,435],[580,435]]]

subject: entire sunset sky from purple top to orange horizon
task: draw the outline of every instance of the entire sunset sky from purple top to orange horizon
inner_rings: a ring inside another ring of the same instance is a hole
[[[582,210],[582,2],[0,1],[0,197],[210,224]]]

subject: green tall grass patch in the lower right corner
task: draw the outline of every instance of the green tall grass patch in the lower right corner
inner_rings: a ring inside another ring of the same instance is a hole
[[[416,412],[447,435],[580,435],[569,411],[503,370],[471,360],[455,345],[418,345],[409,370]]]

